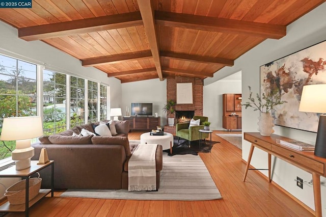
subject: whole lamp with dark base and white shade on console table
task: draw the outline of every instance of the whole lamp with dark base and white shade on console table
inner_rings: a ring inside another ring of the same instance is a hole
[[[306,85],[301,94],[300,112],[326,113],[326,84]],[[314,154],[326,158],[326,115],[319,116]]]

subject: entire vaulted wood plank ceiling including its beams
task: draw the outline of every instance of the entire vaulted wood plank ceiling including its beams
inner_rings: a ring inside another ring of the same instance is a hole
[[[30,9],[0,9],[0,20],[126,83],[212,77],[323,2],[33,0]]]

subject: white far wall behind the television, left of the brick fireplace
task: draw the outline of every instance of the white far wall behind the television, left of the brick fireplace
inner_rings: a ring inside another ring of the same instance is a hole
[[[167,124],[167,116],[162,110],[167,102],[167,80],[157,79],[142,80],[140,82],[123,83],[122,85],[122,115],[126,115],[126,106],[131,102],[153,103],[153,115],[158,113],[161,126]]]

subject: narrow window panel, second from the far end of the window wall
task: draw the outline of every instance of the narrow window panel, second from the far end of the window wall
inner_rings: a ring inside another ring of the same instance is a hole
[[[88,123],[97,121],[97,82],[88,81]]]

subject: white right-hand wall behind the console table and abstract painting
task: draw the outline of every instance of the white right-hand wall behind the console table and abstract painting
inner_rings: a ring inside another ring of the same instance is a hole
[[[268,39],[259,44],[249,52],[235,60],[234,66],[224,67],[215,74],[229,75],[237,71],[242,71],[242,99],[249,97],[248,86],[252,87],[254,93],[259,93],[259,67],[271,61],[287,56],[293,52],[314,45],[325,40],[326,36],[326,3],[323,3],[315,10],[296,20],[287,27],[287,35],[279,40]],[[218,75],[204,80],[204,85],[215,83]],[[259,112],[252,109],[242,109],[242,131],[257,131],[257,118]],[[294,139],[305,139],[315,142],[316,133],[302,130],[290,129],[275,126],[275,133]],[[242,158],[247,160],[250,143],[242,141]],[[255,150],[251,160],[255,168],[267,168],[267,154],[260,150]],[[294,179],[296,176],[304,181],[312,179],[311,174],[293,167],[287,162],[275,159],[273,162],[273,180],[286,189],[294,197],[298,198],[306,205],[314,209],[312,185],[304,183],[304,189],[298,188]],[[263,172],[267,175],[267,172]],[[240,174],[239,174],[240,175]],[[321,181],[326,183],[326,178],[321,177]],[[322,212],[326,216],[326,185],[321,185]]]

